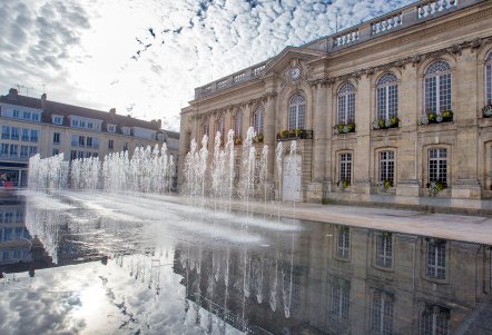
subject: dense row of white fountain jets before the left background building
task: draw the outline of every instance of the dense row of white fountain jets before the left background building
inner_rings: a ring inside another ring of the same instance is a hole
[[[131,159],[128,151],[98,157],[63,160],[63,154],[29,160],[29,189],[57,191],[106,190],[164,194],[173,189],[175,162],[166,144],[159,149],[136,148]]]

